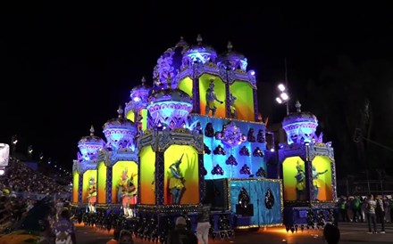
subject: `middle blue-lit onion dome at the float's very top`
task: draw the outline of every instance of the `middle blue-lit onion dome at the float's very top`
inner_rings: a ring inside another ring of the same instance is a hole
[[[201,35],[197,36],[197,45],[192,45],[183,54],[183,66],[189,66],[193,62],[215,62],[217,59],[217,53],[214,48],[210,45],[202,44]]]

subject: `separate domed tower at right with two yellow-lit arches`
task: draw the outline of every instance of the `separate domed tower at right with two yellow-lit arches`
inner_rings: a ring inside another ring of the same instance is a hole
[[[315,131],[314,114],[301,110],[282,121],[287,143],[280,144],[279,161],[283,180],[284,224],[287,231],[322,229],[337,223],[337,191],[334,150]]]

